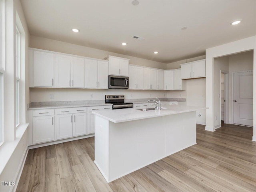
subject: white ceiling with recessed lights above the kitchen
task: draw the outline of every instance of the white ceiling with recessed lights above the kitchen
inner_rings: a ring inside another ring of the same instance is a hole
[[[255,0],[139,1],[133,6],[131,0],[21,0],[34,36],[164,63],[256,35]],[[237,19],[242,22],[230,25]]]

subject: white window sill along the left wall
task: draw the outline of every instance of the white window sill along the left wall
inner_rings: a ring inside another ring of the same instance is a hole
[[[16,130],[16,139],[14,141],[5,141],[4,144],[0,147],[0,174],[4,170],[6,164],[10,160],[14,150],[18,146],[22,136],[28,128],[28,124],[20,124]]]

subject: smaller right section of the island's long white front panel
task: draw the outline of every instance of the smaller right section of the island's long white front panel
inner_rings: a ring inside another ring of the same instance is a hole
[[[166,156],[196,144],[196,111],[165,116]]]

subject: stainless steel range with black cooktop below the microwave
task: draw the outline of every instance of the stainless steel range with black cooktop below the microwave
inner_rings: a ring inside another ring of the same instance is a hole
[[[112,109],[132,108],[133,104],[124,102],[124,95],[105,95],[105,103],[112,103]]]

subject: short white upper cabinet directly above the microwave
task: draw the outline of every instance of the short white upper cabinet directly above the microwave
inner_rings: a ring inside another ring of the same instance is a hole
[[[104,58],[109,60],[109,74],[117,76],[129,76],[129,59],[115,56]]]

